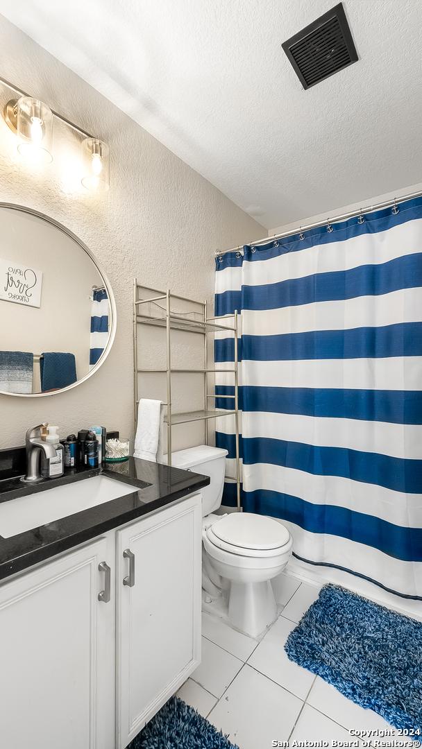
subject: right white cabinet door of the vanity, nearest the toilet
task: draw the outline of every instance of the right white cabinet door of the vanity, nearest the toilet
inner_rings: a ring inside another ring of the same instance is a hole
[[[201,495],[118,531],[117,743],[123,749],[200,661]]]

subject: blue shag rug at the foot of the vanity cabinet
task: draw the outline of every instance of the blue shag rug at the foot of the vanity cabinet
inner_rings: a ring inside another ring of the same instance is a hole
[[[239,749],[196,710],[172,697],[127,749]]]

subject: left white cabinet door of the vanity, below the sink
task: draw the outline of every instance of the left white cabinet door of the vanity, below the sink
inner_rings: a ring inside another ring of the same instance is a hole
[[[114,749],[115,596],[98,600],[112,540],[0,586],[2,747]]]

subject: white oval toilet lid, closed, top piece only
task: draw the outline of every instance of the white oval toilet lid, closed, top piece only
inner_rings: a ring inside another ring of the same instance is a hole
[[[252,512],[232,512],[212,524],[212,535],[224,544],[255,551],[279,549],[290,533],[281,523]]]

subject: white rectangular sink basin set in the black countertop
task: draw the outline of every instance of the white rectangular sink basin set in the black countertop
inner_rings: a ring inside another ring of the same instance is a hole
[[[107,476],[93,476],[64,486],[45,489],[16,500],[0,502],[0,536],[10,539],[25,530],[38,528],[75,512],[117,500],[136,487]]]

